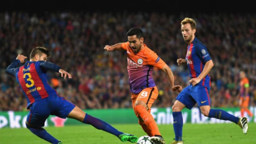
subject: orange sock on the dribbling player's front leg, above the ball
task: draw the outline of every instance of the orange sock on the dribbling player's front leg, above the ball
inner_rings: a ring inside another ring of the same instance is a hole
[[[145,107],[138,105],[134,107],[134,112],[137,117],[143,119],[144,123],[152,131],[154,135],[161,135],[158,129],[158,126],[155,122],[153,116],[146,110]],[[144,130],[144,129],[143,129]]]

